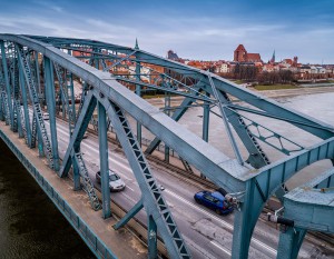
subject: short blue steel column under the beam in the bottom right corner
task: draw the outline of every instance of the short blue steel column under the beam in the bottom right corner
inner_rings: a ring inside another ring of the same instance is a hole
[[[305,229],[281,226],[277,258],[296,259],[306,232]]]

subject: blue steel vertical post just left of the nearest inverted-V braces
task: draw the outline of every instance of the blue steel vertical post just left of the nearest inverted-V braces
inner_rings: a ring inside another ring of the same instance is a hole
[[[49,111],[51,141],[52,141],[52,157],[53,167],[56,171],[59,171],[59,152],[58,152],[58,138],[56,126],[56,96],[55,96],[55,79],[53,79],[53,66],[49,58],[45,57],[45,91],[47,97],[47,104]]]

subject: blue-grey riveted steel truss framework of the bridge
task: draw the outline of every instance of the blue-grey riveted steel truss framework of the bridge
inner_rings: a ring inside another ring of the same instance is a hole
[[[307,230],[333,233],[333,168],[318,172],[318,178],[306,186],[293,191],[285,188],[285,182],[303,168],[323,159],[334,161],[333,126],[208,71],[143,51],[137,42],[135,48],[127,48],[87,39],[0,34],[0,119],[11,131],[18,132],[19,138],[24,138],[29,148],[38,148],[40,157],[47,158],[48,166],[60,178],[71,172],[73,187],[84,186],[91,208],[102,209],[104,218],[111,215],[107,129],[108,123],[112,124],[141,190],[139,202],[115,228],[121,228],[145,208],[149,258],[158,257],[157,233],[170,258],[191,258],[146,159],[160,142],[165,143],[166,160],[173,149],[188,170],[196,168],[203,177],[228,192],[227,197],[236,207],[232,258],[248,257],[255,225],[274,195],[283,207],[273,217],[282,223],[277,258],[296,258]],[[73,81],[82,86],[77,106]],[[143,99],[148,91],[164,92],[165,109],[159,110]],[[170,98],[175,96],[183,97],[183,101],[179,107],[171,108]],[[204,111],[202,138],[178,123],[191,107],[202,107]],[[43,121],[46,109],[50,132]],[[80,152],[82,137],[96,109],[101,201]],[[62,161],[57,139],[56,114],[59,112],[70,132]],[[230,142],[234,158],[208,143],[210,113],[222,118],[228,136],[225,141]],[[257,123],[249,114],[287,122],[317,137],[318,142],[303,147]],[[137,123],[135,130],[129,117]],[[145,150],[141,149],[143,127],[155,136]],[[242,140],[242,147],[237,139]],[[285,158],[271,162],[261,143],[284,153]]]

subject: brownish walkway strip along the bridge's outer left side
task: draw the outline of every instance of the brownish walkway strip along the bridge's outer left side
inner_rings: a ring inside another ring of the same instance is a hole
[[[147,248],[144,247],[136,237],[134,237],[126,229],[119,231],[114,230],[112,225],[116,223],[116,219],[112,217],[109,219],[102,219],[101,211],[94,211],[91,209],[86,192],[82,190],[73,191],[73,185],[70,179],[59,178],[55,171],[47,167],[46,159],[40,159],[38,157],[38,151],[29,149],[24,143],[24,139],[18,139],[18,135],[13,133],[2,121],[0,121],[0,133],[1,136],[6,135],[8,139],[29,160],[29,162],[38,170],[40,175],[39,177],[36,177],[38,183],[41,185],[42,182],[43,185],[47,185],[47,189],[52,189],[52,195],[57,193],[58,201],[65,201],[62,207],[67,215],[68,211],[70,211],[69,215],[71,218],[71,225],[73,225],[73,221],[78,222],[78,226],[79,222],[80,226],[85,226],[86,223],[89,229],[88,232],[94,232],[96,236],[98,236],[98,239],[102,241],[107,248],[112,250],[117,258],[147,258]],[[50,196],[50,193],[48,195]],[[55,200],[52,201],[55,202]],[[61,202],[58,202],[58,205],[57,202],[55,203],[58,208],[59,206],[61,207]],[[63,211],[61,212],[63,213]],[[73,217],[77,217],[76,220],[73,220]],[[78,229],[76,230],[78,231]],[[57,229],[55,229],[55,231],[57,231]],[[78,232],[82,237],[82,233],[85,236],[85,231],[87,235],[87,228],[84,230],[80,229]],[[87,240],[85,241],[87,242]],[[90,249],[92,248],[90,247]]]

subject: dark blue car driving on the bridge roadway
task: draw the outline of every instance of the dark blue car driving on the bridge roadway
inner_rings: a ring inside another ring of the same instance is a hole
[[[227,215],[233,211],[233,206],[219,191],[199,191],[194,196],[196,202],[213,209],[217,215]]]

